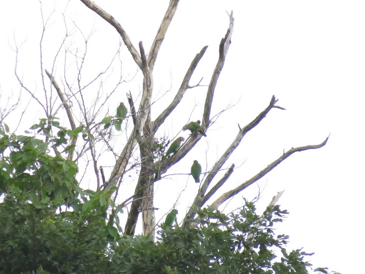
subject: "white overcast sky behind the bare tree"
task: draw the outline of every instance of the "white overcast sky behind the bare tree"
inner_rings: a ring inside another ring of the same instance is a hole
[[[64,35],[60,11],[65,1],[44,2],[47,2],[45,16],[55,7],[57,20],[46,34],[49,48],[45,49],[54,52]],[[142,40],[146,52],[168,5],[167,0],[99,0],[96,3],[120,22],[136,47]],[[257,207],[262,211],[273,195],[285,189],[279,204],[291,214],[277,226],[277,232],[290,236],[288,249],[304,247],[307,252],[315,252],[310,258],[315,267],[327,266],[343,274],[360,273],[364,259],[361,223],[364,223],[365,190],[365,2],[181,1],[154,69],[155,91],[162,94],[171,87],[156,103],[154,117],[173,98],[191,60],[205,45],[209,45],[208,50],[190,84],[197,83],[201,77],[204,77],[202,85],[209,83],[218,57],[218,44],[229,23],[226,11],[231,10],[235,18],[232,44],[216,87],[212,114],[229,104],[236,105],[220,116],[208,130],[208,137],[197,144],[186,161],[178,163],[175,172],[184,173],[181,168],[189,172],[195,158],[204,163],[204,170],[207,164],[211,167],[235,138],[237,123],[241,127],[248,124],[275,95],[280,100],[277,105],[287,110],[271,110],[246,135],[227,166],[245,163],[233,173],[226,189],[255,175],[278,158],[283,149],[319,144],[330,134],[323,148],[292,155],[258,181],[265,189]],[[116,48],[119,37],[114,28],[80,1],[70,1],[66,16],[76,21],[85,34],[94,26],[95,38],[91,43],[99,52],[95,58],[104,58],[104,54]],[[18,42],[25,41],[19,60],[20,74],[33,86],[39,80],[38,46],[42,27],[39,2],[5,1],[1,4],[0,26],[0,92],[7,95],[19,90],[14,77],[15,55],[11,50],[13,35]],[[137,67],[127,51],[123,62],[130,64],[124,69],[134,74]],[[132,82],[128,89],[138,91],[141,86]],[[120,99],[125,103],[126,91],[121,92]],[[187,91],[187,99],[164,128],[170,138],[179,133],[195,103],[198,106],[192,120],[201,117],[205,91],[206,87]],[[29,99],[25,94],[24,100]],[[37,109],[27,114],[29,121],[24,122],[22,130],[42,116]],[[6,122],[12,125],[12,121]],[[205,150],[208,150],[208,161]],[[178,178],[171,176],[157,184],[156,206],[165,209],[156,213],[157,219],[172,206],[187,182],[181,196],[184,202],[178,205],[180,217],[191,203],[198,185],[187,176],[182,181]],[[230,201],[227,210],[241,206],[242,196],[252,199],[257,191],[257,185],[252,185]]]

